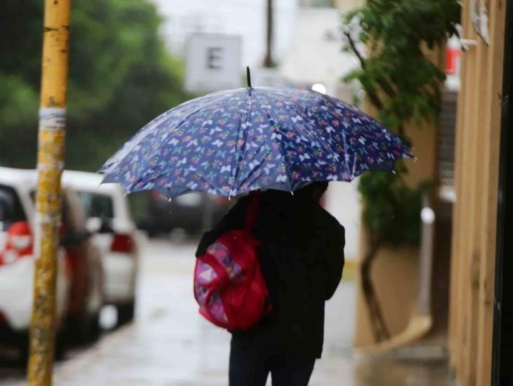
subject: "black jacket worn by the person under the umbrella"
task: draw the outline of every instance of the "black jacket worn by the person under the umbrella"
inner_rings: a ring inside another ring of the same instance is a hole
[[[212,231],[196,255],[229,229],[245,224],[252,195],[242,197]],[[320,358],[324,303],[344,267],[344,227],[310,199],[276,190],[262,193],[252,228],[273,311],[249,331],[233,333],[269,350]]]

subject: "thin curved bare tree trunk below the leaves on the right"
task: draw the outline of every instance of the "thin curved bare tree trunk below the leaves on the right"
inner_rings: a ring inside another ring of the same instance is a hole
[[[372,328],[372,334],[374,335],[375,342],[381,342],[382,340],[390,338],[389,328],[384,320],[382,308],[379,304],[379,298],[377,297],[375,287],[370,276],[372,262],[374,262],[381,245],[382,242],[380,237],[370,234],[369,248],[367,253],[365,253],[365,257],[363,258],[363,262],[360,267],[362,290],[365,302],[367,303],[370,326]]]

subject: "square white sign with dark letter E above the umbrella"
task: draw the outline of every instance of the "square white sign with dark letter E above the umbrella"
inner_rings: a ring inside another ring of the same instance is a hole
[[[186,90],[208,93],[241,86],[241,38],[191,34],[187,39]]]

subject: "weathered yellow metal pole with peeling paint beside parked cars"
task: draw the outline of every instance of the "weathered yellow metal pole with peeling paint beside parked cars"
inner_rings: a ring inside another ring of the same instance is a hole
[[[60,230],[70,0],[44,1],[35,216],[36,271],[30,326],[30,386],[51,385],[56,327],[56,253]]]

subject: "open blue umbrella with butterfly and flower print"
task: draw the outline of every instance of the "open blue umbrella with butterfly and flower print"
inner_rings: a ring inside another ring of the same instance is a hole
[[[294,88],[212,93],[141,128],[105,164],[103,182],[167,197],[226,197],[260,188],[294,191],[313,181],[351,181],[413,157],[382,124],[341,100]]]

